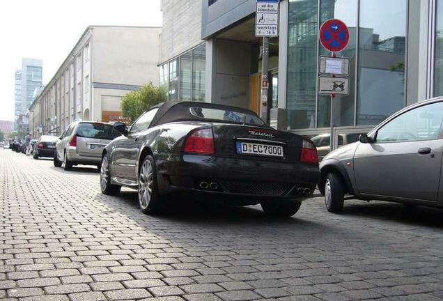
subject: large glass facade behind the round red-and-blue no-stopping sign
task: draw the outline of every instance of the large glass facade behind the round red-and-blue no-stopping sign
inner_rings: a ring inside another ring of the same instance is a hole
[[[334,98],[334,126],[377,125],[405,106],[407,0],[290,0],[288,10],[288,130],[330,126],[330,98],[317,93],[318,55],[330,55],[318,28],[330,18],[350,31],[336,53],[350,59],[350,95]]]

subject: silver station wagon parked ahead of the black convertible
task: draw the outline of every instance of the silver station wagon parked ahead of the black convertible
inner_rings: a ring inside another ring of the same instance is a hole
[[[100,169],[102,151],[114,138],[119,137],[111,123],[75,121],[59,137],[54,152],[54,166],[65,170],[73,165],[96,165]]]

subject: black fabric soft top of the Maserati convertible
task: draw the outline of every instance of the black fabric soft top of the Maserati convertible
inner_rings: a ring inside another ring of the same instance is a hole
[[[211,120],[208,118],[201,118],[199,116],[195,116],[191,114],[191,108],[192,107],[201,107],[206,109],[221,109],[224,111],[235,111],[242,114],[249,114],[251,116],[257,116],[253,111],[250,111],[248,109],[242,109],[239,107],[231,107],[227,105],[217,105],[212,104],[208,102],[189,102],[189,101],[180,101],[180,100],[171,100],[168,102],[161,102],[159,105],[156,105],[154,107],[151,107],[150,109],[153,109],[155,107],[158,107],[157,114],[155,114],[155,117],[153,118],[153,121],[150,123],[149,128],[153,128],[157,125],[162,125],[164,123],[171,123],[171,122],[179,122],[179,121],[208,121],[208,122],[226,122],[226,123],[236,123],[234,121],[220,121],[220,120]],[[260,126],[267,126],[267,125],[260,125]]]

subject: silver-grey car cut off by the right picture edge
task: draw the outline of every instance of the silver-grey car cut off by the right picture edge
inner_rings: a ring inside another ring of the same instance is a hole
[[[320,163],[329,212],[344,199],[443,207],[443,98],[406,107]],[[346,197],[345,197],[346,196]]]

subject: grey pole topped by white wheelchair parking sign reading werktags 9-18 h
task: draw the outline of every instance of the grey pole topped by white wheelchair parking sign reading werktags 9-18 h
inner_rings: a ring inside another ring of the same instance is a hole
[[[256,36],[263,37],[261,47],[261,112],[267,122],[267,61],[269,59],[269,38],[279,36],[279,0],[257,0]]]

